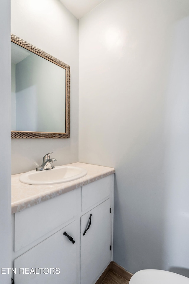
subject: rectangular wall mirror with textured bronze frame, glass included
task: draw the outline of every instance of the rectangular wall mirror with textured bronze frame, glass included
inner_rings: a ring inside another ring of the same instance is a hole
[[[69,138],[70,66],[11,34],[12,138]]]

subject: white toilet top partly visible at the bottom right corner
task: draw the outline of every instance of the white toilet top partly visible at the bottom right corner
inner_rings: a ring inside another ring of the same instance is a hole
[[[169,271],[145,269],[136,272],[129,284],[189,284],[189,278]]]

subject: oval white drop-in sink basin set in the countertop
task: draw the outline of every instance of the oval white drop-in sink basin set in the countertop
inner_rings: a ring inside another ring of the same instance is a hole
[[[79,167],[57,166],[50,170],[25,172],[20,176],[19,181],[27,184],[45,185],[67,183],[85,175],[87,175],[87,170]]]

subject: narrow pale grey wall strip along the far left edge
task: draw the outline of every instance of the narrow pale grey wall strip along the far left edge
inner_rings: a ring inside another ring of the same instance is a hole
[[[0,9],[0,267],[11,267],[11,52],[10,2],[1,1]],[[1,274],[0,283],[10,284],[11,274]]]

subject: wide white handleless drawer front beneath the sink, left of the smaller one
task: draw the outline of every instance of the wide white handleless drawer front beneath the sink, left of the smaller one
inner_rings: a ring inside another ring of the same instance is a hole
[[[14,251],[27,246],[76,215],[76,190],[15,213]]]

